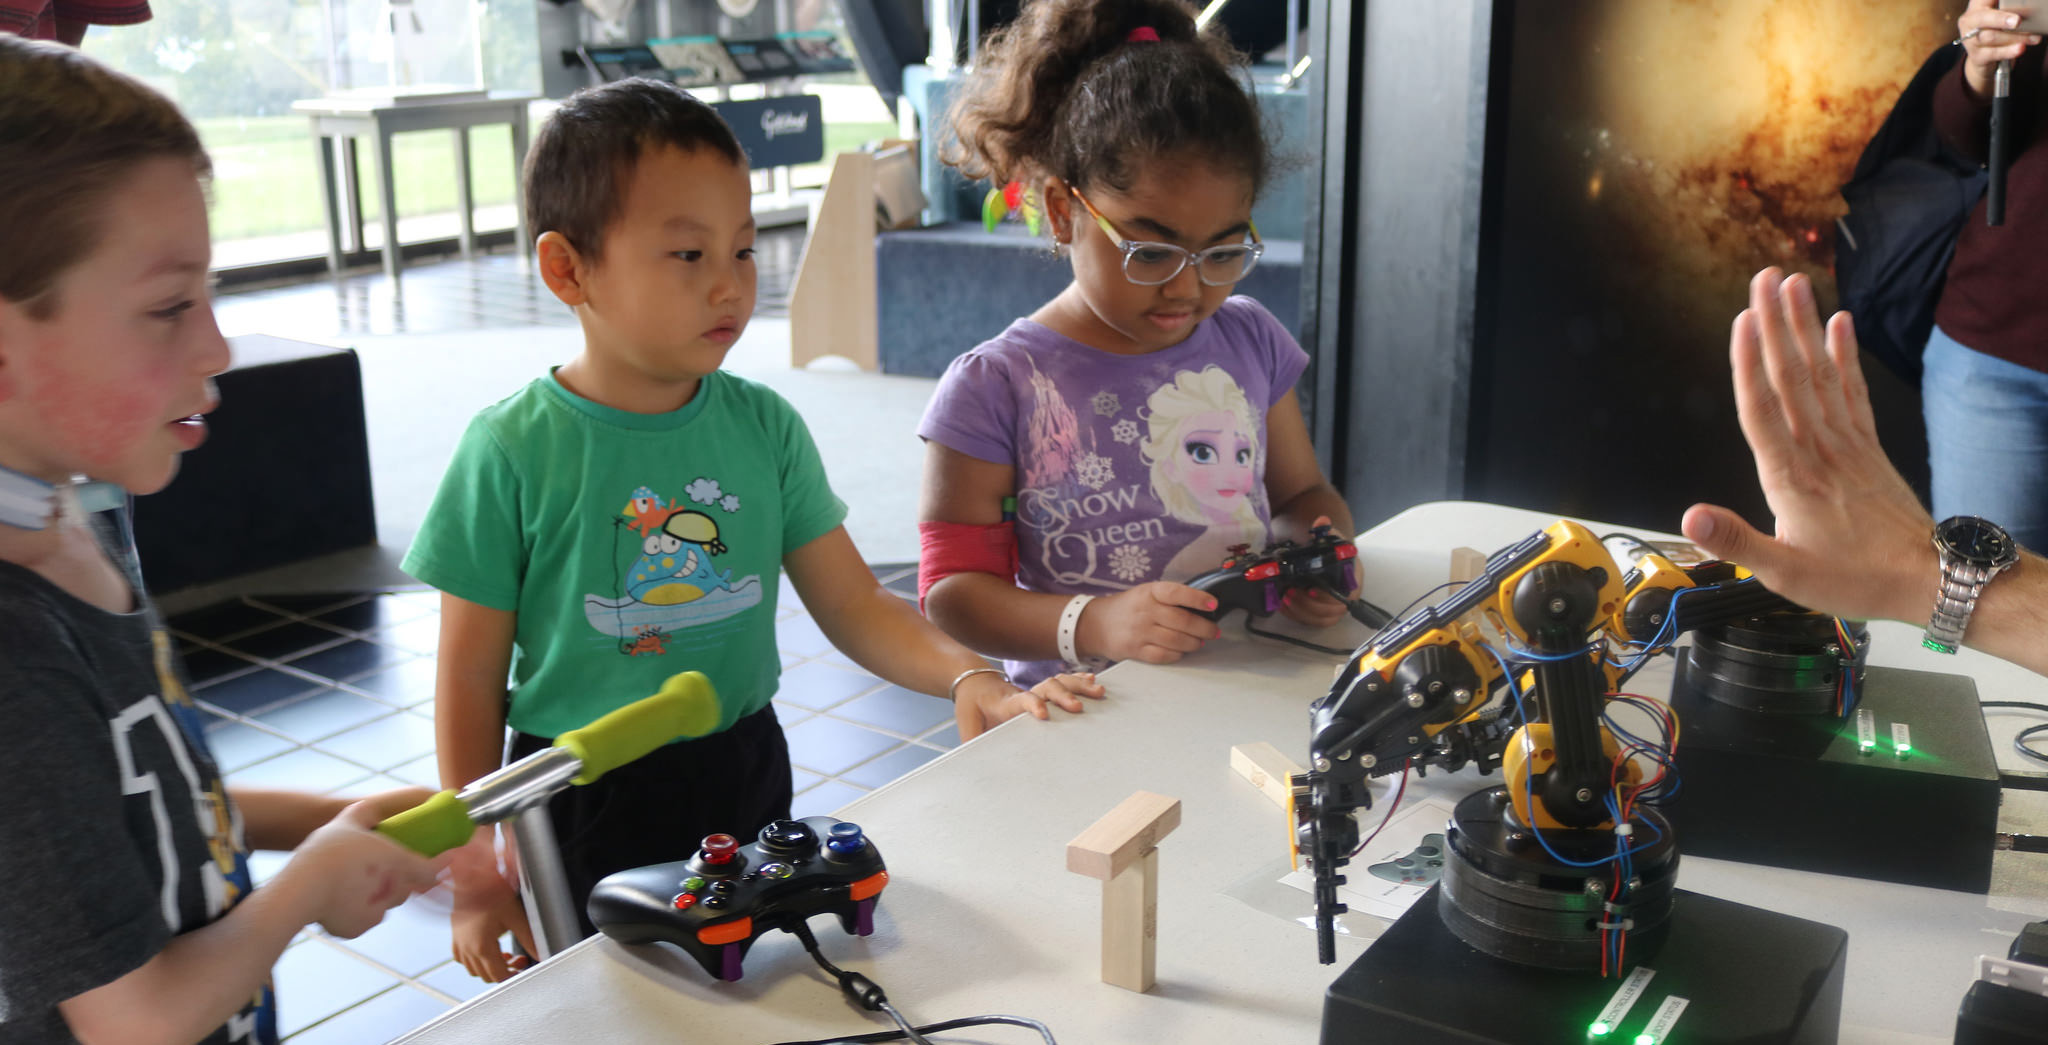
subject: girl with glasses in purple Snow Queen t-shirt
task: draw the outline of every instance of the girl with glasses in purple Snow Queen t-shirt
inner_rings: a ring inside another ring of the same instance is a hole
[[[946,160],[1028,184],[1073,262],[948,367],[918,426],[926,611],[1018,680],[1178,660],[1219,635],[1186,580],[1235,545],[1350,533],[1294,400],[1307,352],[1231,297],[1270,162],[1235,61],[1180,0],[1034,0],[950,111]]]

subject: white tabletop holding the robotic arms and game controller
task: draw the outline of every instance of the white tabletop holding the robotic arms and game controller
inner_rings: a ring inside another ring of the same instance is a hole
[[[1397,609],[1448,576],[1452,547],[1493,551],[1552,520],[1468,502],[1411,508],[1360,535],[1366,594]],[[1362,637],[1354,631],[1325,641],[1346,645]],[[1018,719],[842,809],[881,846],[891,885],[872,936],[815,920],[825,955],[874,977],[915,1022],[1010,1012],[1044,1020],[1063,1043],[1313,1041],[1323,990],[1364,943],[1339,938],[1339,965],[1317,965],[1309,895],[1274,883],[1286,869],[1284,813],[1229,768],[1229,750],[1270,742],[1305,758],[1307,705],[1339,660],[1243,637],[1235,623],[1225,635],[1176,666],[1120,664],[1104,674],[1110,699],[1085,715]],[[2048,697],[2048,680],[1991,658],[1919,650],[1903,625],[1874,635],[1876,664],[1968,672],[1982,699]],[[1653,670],[1634,688],[1663,693],[1669,676]],[[1995,719],[1993,742],[2007,746],[2019,721]],[[2019,768],[2009,750],[1999,760]],[[1409,795],[1456,799],[1487,781],[1432,775]],[[1182,826],[1159,846],[1149,994],[1098,979],[1100,883],[1065,871],[1067,842],[1133,791],[1182,799]],[[1874,824],[1886,828],[1901,830]],[[2013,863],[1999,865],[1989,897],[1692,856],[1679,873],[1686,889],[1847,928],[1841,1041],[1880,1045],[1950,1041],[1974,957],[2003,953],[2023,922],[2048,916],[2044,883],[2044,869]],[[1350,920],[1366,932],[1382,924]],[[879,1029],[780,932],[754,945],[737,984],[668,947],[600,936],[401,1041],[770,1043]]]

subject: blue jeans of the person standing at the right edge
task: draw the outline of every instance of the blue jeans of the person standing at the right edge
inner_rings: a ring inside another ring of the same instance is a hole
[[[1985,516],[2048,549],[2048,373],[1966,348],[1939,326],[1923,363],[1933,516]]]

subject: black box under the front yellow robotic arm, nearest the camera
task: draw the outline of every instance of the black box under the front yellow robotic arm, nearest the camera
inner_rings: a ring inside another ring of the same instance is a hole
[[[1616,977],[1516,965],[1444,928],[1430,887],[1323,998],[1323,1045],[1634,1041],[1683,998],[1667,1035],[1692,1045],[1833,1045],[1849,934],[1821,922],[1675,891],[1669,932],[1624,963],[1655,971],[1604,1037],[1589,1027]],[[1665,1039],[1659,1039],[1665,1041]]]

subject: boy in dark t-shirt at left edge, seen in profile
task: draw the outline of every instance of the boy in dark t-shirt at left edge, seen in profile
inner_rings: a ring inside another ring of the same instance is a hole
[[[274,1043],[285,945],[434,883],[373,830],[426,789],[221,783],[127,512],[78,494],[154,494],[207,434],[209,170],[168,98],[0,35],[0,1041]],[[293,854],[252,887],[250,848]]]

